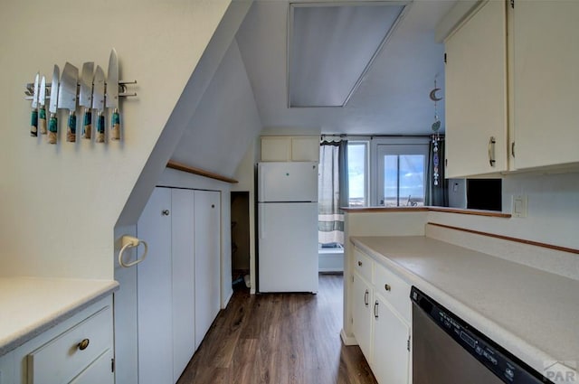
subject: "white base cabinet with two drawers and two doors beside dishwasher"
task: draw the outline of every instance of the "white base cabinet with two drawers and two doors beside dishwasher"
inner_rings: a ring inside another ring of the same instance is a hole
[[[356,342],[378,383],[411,383],[411,286],[357,248],[353,261]]]

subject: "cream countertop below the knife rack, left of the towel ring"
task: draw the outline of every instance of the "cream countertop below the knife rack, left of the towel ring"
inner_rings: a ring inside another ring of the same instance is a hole
[[[0,278],[0,356],[118,287],[112,280]]]

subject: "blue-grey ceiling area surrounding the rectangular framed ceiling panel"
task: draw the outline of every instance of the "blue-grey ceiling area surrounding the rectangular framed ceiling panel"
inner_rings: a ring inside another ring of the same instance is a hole
[[[351,2],[350,2],[351,3]],[[420,0],[398,24],[344,108],[288,108],[287,33],[289,2],[256,0],[236,40],[268,133],[425,135],[434,105],[429,93],[437,80],[443,96],[444,49],[434,28],[454,0]],[[439,102],[444,127],[444,103]]]

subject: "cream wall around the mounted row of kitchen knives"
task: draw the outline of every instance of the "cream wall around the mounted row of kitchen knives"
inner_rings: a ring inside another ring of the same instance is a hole
[[[2,2],[0,275],[113,277],[115,222],[229,3]],[[54,63],[106,70],[112,47],[121,80],[138,80],[120,105],[123,140],[63,143],[63,114],[59,145],[29,136],[36,71],[50,82]]]

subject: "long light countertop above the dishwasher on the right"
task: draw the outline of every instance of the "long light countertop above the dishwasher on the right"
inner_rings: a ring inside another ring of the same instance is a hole
[[[579,281],[422,236],[356,247],[543,372],[579,363]]]

